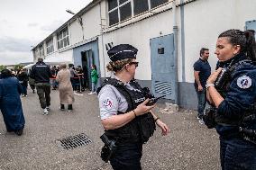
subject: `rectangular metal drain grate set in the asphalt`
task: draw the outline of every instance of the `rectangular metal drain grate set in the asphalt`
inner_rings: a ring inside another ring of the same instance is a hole
[[[76,136],[71,136],[66,139],[58,139],[57,144],[59,148],[72,149],[91,143],[92,140],[87,137],[85,133],[80,133]]]

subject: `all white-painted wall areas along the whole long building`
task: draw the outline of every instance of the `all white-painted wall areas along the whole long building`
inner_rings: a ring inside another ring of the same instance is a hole
[[[170,4],[169,4],[170,5]],[[101,10],[100,10],[101,7]],[[255,0],[197,0],[185,4],[185,63],[182,63],[181,56],[181,17],[180,7],[177,8],[178,21],[178,81],[182,81],[182,66],[185,65],[185,82],[194,82],[193,64],[199,58],[199,50],[202,47],[210,49],[209,62],[212,70],[215,69],[215,41],[222,31],[228,29],[241,29],[246,21],[256,19]],[[100,16],[100,11],[102,16]],[[141,17],[141,16],[140,16]],[[113,42],[114,45],[129,43],[139,49],[137,59],[140,67],[137,68],[136,78],[151,80],[151,49],[150,39],[173,33],[173,12],[169,10],[144,19],[133,22],[123,28],[105,32],[103,42],[101,39],[101,22],[105,25],[107,18],[106,1],[102,1],[90,9],[83,16],[84,37],[89,40],[98,37],[101,76],[105,75],[105,66],[109,62],[106,54],[105,43]],[[133,20],[136,18],[133,18]],[[131,22],[132,20],[128,21]],[[104,26],[103,25],[103,26]],[[104,26],[105,27],[105,26]],[[107,29],[106,29],[107,30]],[[160,34],[161,32],[161,34]],[[70,45],[82,41],[83,32],[78,21],[69,24]],[[50,56],[60,58],[72,58],[72,49],[65,52],[58,52],[56,36],[53,39],[54,53]],[[47,56],[48,57],[48,56]],[[73,61],[73,59],[71,59]]]

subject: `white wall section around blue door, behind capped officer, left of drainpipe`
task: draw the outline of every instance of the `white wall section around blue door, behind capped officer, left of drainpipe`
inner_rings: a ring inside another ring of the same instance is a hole
[[[172,14],[160,13],[151,18],[134,22],[122,29],[104,34],[104,44],[113,42],[114,45],[128,43],[139,49],[136,77],[141,80],[151,80],[151,47],[150,39],[172,33]],[[161,32],[161,34],[160,34]],[[105,53],[106,61],[109,61]]]

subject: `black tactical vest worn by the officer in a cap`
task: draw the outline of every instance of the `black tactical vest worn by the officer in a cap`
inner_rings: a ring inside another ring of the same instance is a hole
[[[114,78],[106,78],[103,85],[97,89],[97,93],[105,85],[113,85],[120,94],[123,94],[128,103],[128,109],[125,112],[133,111],[140,103],[146,100],[147,94],[143,91],[142,87],[132,80],[130,85],[133,90],[128,89],[123,82]],[[125,112],[117,112],[117,114],[124,114]],[[133,121],[125,124],[123,127],[115,130],[105,130],[105,134],[109,138],[117,139],[118,143],[136,143],[147,142],[156,130],[155,121],[151,112],[145,113],[142,116],[137,116]]]

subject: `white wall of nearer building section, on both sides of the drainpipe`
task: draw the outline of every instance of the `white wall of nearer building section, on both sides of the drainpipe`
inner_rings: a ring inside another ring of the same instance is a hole
[[[255,20],[255,0],[197,0],[184,6],[185,31],[185,63],[181,56],[181,17],[180,7],[177,8],[178,21],[178,81],[182,81],[182,66],[185,65],[185,82],[194,82],[193,64],[199,58],[202,47],[210,49],[209,63],[215,69],[215,41],[217,36],[229,29],[244,29],[246,21]],[[151,80],[151,49],[150,39],[172,33],[172,10],[159,13],[140,22],[133,22],[123,28],[106,32],[105,43],[129,43],[139,49],[136,78]],[[105,47],[103,48],[105,50]],[[101,52],[100,52],[101,54]],[[105,63],[109,61],[106,51]],[[101,58],[101,61],[104,59]],[[103,67],[101,67],[103,69]],[[102,70],[102,73],[104,71]]]

